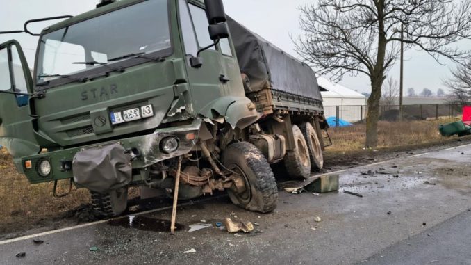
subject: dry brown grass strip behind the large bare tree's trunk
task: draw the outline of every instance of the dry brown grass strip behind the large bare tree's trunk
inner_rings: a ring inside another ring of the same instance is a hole
[[[429,120],[414,122],[379,122],[378,148],[440,143],[446,140],[440,136],[438,125],[454,122],[458,119]],[[365,146],[366,125],[331,128],[329,134],[333,145],[327,151],[345,152],[362,150]]]

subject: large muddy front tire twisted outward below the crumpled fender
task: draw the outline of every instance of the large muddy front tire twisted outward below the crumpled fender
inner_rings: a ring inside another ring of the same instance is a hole
[[[228,189],[233,204],[249,211],[267,213],[276,208],[278,188],[270,164],[251,143],[234,143],[224,150],[222,163],[241,175],[245,190]]]

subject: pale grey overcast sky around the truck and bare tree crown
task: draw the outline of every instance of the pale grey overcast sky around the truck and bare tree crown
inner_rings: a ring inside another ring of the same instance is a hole
[[[0,8],[0,31],[19,30],[28,19],[39,17],[53,17],[58,15],[78,15],[93,9],[99,0],[2,0]],[[301,34],[299,30],[299,6],[317,0],[224,0],[226,13],[234,19],[255,31],[274,45],[297,56],[293,51],[294,45],[290,38]],[[34,29],[48,26],[37,24]],[[35,48],[38,38],[24,33],[0,35],[0,42],[15,38],[22,44],[28,58],[30,67],[33,67]],[[470,42],[461,43],[462,47],[469,46]],[[443,88],[442,80],[449,77],[449,70],[454,67],[452,63],[439,65],[433,58],[421,51],[406,52],[404,68],[404,90],[413,87],[419,93],[423,88],[436,91]],[[389,73],[399,80],[399,62]],[[358,90],[370,91],[370,81],[365,75],[351,77],[347,74],[340,83],[344,86]]]

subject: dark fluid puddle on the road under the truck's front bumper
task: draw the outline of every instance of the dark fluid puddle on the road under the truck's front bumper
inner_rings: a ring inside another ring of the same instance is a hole
[[[110,220],[108,221],[108,225],[151,232],[170,232],[170,220],[149,218],[145,216],[128,216],[117,220]],[[175,226],[176,231],[183,230],[185,227],[179,223],[176,223]]]

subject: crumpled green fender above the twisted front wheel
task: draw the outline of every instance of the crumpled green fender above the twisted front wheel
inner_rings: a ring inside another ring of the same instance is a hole
[[[228,122],[232,129],[244,129],[261,117],[254,102],[247,97],[233,96],[213,100],[199,114],[215,122]]]

